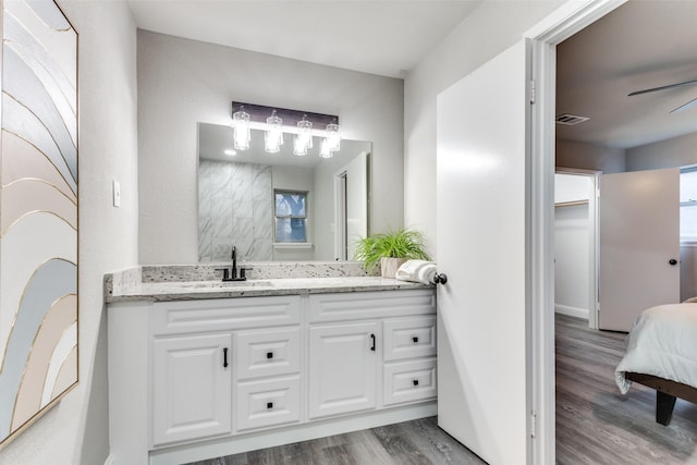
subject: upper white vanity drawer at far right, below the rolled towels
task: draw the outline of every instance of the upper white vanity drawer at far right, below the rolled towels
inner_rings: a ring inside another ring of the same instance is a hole
[[[436,317],[386,320],[382,328],[386,362],[436,355]]]

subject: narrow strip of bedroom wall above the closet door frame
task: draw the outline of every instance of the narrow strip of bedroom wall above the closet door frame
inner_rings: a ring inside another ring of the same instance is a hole
[[[571,140],[557,140],[557,167],[602,171],[603,174],[626,171],[622,148],[604,147]]]

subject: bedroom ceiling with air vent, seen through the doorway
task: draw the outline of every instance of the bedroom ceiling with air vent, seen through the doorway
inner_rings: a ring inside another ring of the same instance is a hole
[[[558,47],[557,113],[590,117],[557,125],[562,139],[631,148],[697,132],[697,1],[633,0]]]

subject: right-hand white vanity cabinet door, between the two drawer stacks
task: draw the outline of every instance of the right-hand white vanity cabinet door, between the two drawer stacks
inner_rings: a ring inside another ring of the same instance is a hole
[[[309,417],[376,407],[378,322],[310,327]]]

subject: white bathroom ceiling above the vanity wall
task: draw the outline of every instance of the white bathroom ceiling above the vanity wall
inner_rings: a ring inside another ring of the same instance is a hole
[[[126,0],[139,28],[403,77],[480,0]]]

